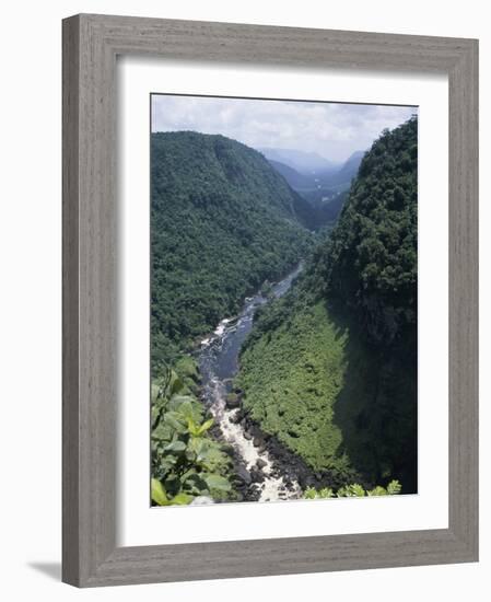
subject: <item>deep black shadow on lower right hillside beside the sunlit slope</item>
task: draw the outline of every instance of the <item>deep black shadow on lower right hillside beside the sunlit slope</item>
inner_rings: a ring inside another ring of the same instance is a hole
[[[381,354],[339,310],[328,308],[336,337],[348,334],[346,372],[335,401],[334,424],[364,485],[397,478],[402,493],[417,493],[417,361],[404,352]]]

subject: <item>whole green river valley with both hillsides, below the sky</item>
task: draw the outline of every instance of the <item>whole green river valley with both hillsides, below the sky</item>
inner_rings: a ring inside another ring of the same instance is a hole
[[[416,144],[332,167],[326,219],[278,157],[152,135],[155,503],[417,490]]]

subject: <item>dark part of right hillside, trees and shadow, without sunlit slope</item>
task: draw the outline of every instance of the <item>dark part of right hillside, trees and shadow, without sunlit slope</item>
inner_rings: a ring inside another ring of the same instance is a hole
[[[418,121],[385,130],[360,165],[309,286],[350,320],[366,349],[351,358],[338,422],[351,460],[374,481],[417,486]],[[365,381],[360,396],[356,379]],[[352,403],[353,398],[359,400]],[[362,398],[365,398],[361,403]]]

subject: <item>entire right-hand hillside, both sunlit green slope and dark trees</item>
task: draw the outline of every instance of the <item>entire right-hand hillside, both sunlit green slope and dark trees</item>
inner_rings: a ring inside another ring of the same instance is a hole
[[[252,417],[338,485],[417,490],[417,139],[413,118],[374,142],[331,236],[241,356]]]

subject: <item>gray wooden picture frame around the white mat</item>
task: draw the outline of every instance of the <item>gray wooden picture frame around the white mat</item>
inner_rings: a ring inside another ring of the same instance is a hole
[[[448,74],[448,529],[116,547],[118,55]],[[63,21],[62,541],[62,579],[79,587],[477,560],[477,40],[90,14]]]

